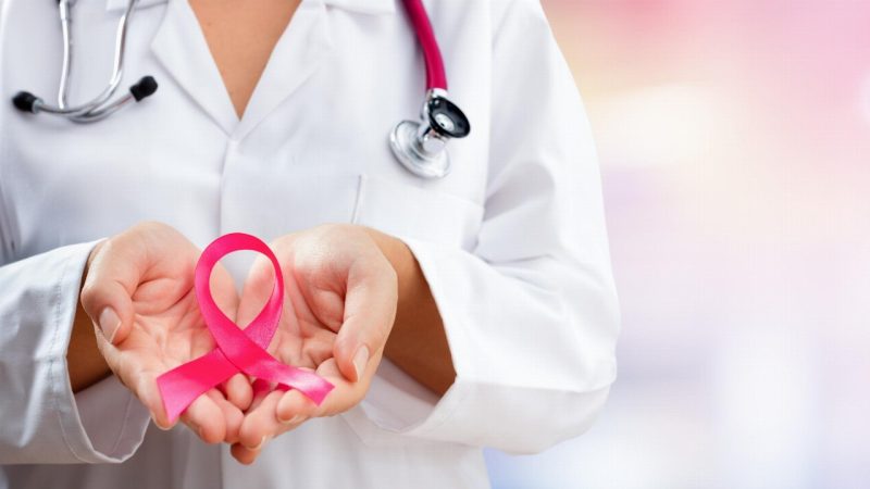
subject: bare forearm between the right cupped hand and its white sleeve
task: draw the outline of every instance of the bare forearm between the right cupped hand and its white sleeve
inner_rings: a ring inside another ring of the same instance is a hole
[[[452,385],[456,371],[438,306],[411,250],[401,240],[370,229],[396,269],[399,300],[384,354],[399,368],[438,394]]]

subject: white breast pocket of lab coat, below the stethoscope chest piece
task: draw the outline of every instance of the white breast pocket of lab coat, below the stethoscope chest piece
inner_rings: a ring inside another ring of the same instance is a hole
[[[471,250],[483,206],[461,197],[363,175],[353,222],[399,238]]]

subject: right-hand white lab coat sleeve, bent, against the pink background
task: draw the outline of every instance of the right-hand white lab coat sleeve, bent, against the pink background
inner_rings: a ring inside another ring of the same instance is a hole
[[[469,252],[405,239],[437,302],[456,380],[431,403],[396,388],[407,379],[380,379],[363,410],[410,437],[529,453],[592,424],[616,378],[619,313],[592,131],[570,71],[537,1],[510,3],[496,23],[477,243]],[[384,367],[389,379],[395,369]]]

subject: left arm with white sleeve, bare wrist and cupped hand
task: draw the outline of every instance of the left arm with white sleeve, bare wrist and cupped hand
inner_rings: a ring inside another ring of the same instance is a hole
[[[170,426],[156,376],[211,348],[201,317],[188,313],[196,308],[198,255],[176,230],[146,223],[104,243],[0,267],[0,415],[15,421],[0,428],[0,463],[122,462],[151,417]],[[225,271],[212,288],[234,314],[237,297]],[[88,316],[99,318],[101,333]],[[184,341],[191,348],[165,348]],[[99,383],[104,377],[111,378]],[[249,397],[250,388],[237,381],[227,391]],[[182,421],[208,442],[233,441],[243,416],[243,402],[235,402],[214,390]]]

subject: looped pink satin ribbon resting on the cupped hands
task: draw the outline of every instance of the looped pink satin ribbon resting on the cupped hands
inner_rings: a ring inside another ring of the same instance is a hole
[[[217,261],[241,250],[266,255],[275,269],[275,286],[269,302],[245,329],[240,329],[217,308],[209,286],[211,271]],[[334,386],[322,377],[283,364],[265,351],[275,335],[284,305],[284,276],[275,254],[263,241],[241,233],[217,238],[199,258],[194,286],[199,310],[217,347],[204,356],[158,377],[157,385],[171,422],[175,422],[200,394],[238,372],[257,377],[259,389],[268,383],[277,384],[283,390],[293,388],[302,392],[316,404],[330,393]]]

